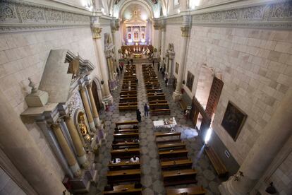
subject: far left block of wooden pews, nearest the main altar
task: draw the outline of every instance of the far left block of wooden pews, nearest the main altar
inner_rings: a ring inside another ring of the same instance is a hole
[[[120,101],[118,103],[119,111],[138,109],[137,81],[135,65],[126,65],[125,73],[123,74],[123,85],[121,87]]]

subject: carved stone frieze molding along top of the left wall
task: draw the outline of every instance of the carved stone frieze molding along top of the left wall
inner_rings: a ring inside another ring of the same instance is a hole
[[[23,1],[0,2],[0,33],[90,25],[90,16]]]

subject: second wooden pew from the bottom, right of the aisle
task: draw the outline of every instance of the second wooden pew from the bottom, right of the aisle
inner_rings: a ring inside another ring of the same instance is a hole
[[[162,171],[164,186],[195,184],[197,172],[193,169]]]

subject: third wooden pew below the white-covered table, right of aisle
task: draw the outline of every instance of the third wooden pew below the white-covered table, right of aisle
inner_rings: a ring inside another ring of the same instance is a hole
[[[188,159],[188,150],[186,149],[163,150],[159,151],[158,154],[162,161]]]

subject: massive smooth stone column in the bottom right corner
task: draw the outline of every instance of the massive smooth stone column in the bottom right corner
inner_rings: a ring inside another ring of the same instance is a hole
[[[272,118],[264,126],[263,133],[243,161],[239,169],[243,172],[243,177],[240,177],[239,181],[235,181],[235,177],[232,176],[228,181],[223,182],[219,186],[221,194],[243,195],[252,191],[276,154],[292,135],[291,100],[292,88],[289,88]]]

